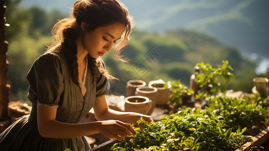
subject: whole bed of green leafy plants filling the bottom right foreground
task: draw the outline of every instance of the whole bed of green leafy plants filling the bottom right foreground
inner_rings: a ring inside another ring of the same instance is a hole
[[[258,95],[212,96],[205,109],[181,109],[158,122],[138,120],[145,129],[136,129],[136,136],[116,143],[110,150],[236,150],[252,141],[245,134],[254,136],[268,126],[268,107],[269,99]]]

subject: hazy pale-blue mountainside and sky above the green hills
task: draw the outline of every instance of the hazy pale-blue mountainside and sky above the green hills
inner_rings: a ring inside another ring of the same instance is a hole
[[[22,7],[37,5],[51,11],[69,13],[75,1],[24,0]],[[242,53],[256,53],[269,58],[269,1],[195,1],[195,0],[122,0],[134,16],[136,28],[164,33],[165,30],[186,28],[208,33]]]

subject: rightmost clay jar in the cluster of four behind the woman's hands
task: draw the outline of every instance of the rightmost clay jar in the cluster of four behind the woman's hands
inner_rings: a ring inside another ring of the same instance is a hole
[[[172,96],[171,85],[168,84],[167,88],[164,87],[164,82],[149,82],[149,88],[153,88],[153,86],[157,89],[157,103],[156,105],[165,105],[169,101]]]

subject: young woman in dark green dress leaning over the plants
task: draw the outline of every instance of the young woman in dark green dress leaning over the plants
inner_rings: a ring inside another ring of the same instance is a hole
[[[121,140],[142,117],[110,110],[105,95],[109,80],[99,56],[114,49],[115,56],[127,45],[132,19],[117,0],[78,0],[70,18],[53,28],[52,46],[32,65],[27,79],[30,116],[24,116],[0,135],[0,150],[88,150],[84,136],[102,133]],[[94,108],[97,122],[79,123]],[[137,125],[140,126],[140,125]]]

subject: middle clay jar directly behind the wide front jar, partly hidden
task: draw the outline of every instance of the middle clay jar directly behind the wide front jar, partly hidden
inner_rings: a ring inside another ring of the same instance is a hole
[[[152,101],[152,107],[149,111],[149,114],[151,114],[153,112],[153,109],[156,106],[156,103],[157,103],[157,95],[158,95],[157,89],[154,87],[152,87],[152,88],[149,88],[149,87],[136,88],[135,95],[147,97],[149,100]]]

